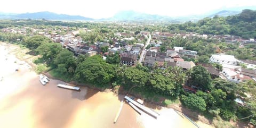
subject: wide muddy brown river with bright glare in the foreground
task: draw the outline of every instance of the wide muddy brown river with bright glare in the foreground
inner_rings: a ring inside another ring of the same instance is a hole
[[[0,52],[1,127],[195,127],[173,109],[157,110],[161,116],[155,120],[138,115],[127,104],[114,124],[121,96],[86,87],[81,91],[61,89],[56,86],[63,83],[59,80],[42,86],[29,65],[8,55],[5,46],[0,46]],[[19,72],[15,72],[17,68]]]

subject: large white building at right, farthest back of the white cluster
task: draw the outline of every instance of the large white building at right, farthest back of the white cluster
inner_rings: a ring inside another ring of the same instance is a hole
[[[237,65],[238,59],[231,55],[215,54],[210,58],[210,63]]]

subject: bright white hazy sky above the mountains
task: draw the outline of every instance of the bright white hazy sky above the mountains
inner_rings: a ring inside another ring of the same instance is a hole
[[[99,19],[109,18],[121,10],[167,16],[186,16],[241,6],[255,6],[256,10],[256,0],[2,0],[0,12],[50,11]]]

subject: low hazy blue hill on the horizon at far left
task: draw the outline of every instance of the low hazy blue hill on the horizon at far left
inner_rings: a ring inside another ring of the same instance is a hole
[[[46,20],[94,20],[79,15],[57,14],[53,12],[35,12],[22,14],[0,13],[0,19],[46,19]]]

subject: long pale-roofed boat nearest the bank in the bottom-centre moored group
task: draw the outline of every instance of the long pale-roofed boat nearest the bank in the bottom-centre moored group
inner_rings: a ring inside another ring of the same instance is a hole
[[[135,105],[136,107],[140,108],[143,112],[149,114],[150,116],[152,116],[152,117],[154,117],[154,118],[157,118],[157,117],[159,116],[159,115],[158,115],[156,112],[154,112],[153,110],[151,110],[151,109],[149,109],[149,108],[147,108],[147,107],[145,107],[145,106],[139,104],[137,101],[132,100],[130,97],[125,96],[124,98],[127,99],[128,101],[130,101],[130,103],[132,103],[132,104]]]

